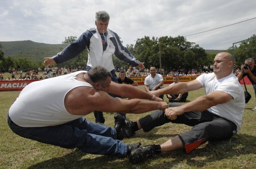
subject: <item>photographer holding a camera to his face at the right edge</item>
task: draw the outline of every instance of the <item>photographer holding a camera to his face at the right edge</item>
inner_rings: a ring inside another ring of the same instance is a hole
[[[237,78],[240,81],[244,76],[247,76],[252,83],[256,97],[256,65],[253,58],[245,59],[244,65],[241,65],[241,73],[239,73]],[[256,107],[254,107],[252,110],[256,111]]]

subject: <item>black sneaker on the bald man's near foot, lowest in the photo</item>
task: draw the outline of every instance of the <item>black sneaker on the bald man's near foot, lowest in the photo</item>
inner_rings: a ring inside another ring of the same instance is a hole
[[[146,146],[140,146],[137,149],[134,149],[131,154],[129,155],[129,161],[131,163],[137,164],[137,163],[143,163],[146,161],[148,157],[155,157],[157,156],[154,153],[155,145],[146,145]]]

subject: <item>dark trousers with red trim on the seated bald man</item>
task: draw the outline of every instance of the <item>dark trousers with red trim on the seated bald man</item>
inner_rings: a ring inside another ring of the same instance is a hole
[[[177,107],[182,104],[170,103],[169,107]],[[206,141],[217,141],[230,138],[236,133],[236,124],[208,110],[198,112],[186,112],[178,115],[175,120],[166,117],[162,110],[157,110],[139,119],[140,125],[145,132],[154,127],[172,122],[192,126],[191,130],[179,134],[186,153],[191,152]]]

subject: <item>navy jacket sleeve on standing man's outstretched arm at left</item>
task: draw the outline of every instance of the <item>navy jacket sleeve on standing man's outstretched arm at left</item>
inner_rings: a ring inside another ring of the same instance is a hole
[[[90,31],[86,31],[73,43],[68,45],[63,51],[53,56],[52,59],[58,64],[78,56],[86,46],[90,45]]]

